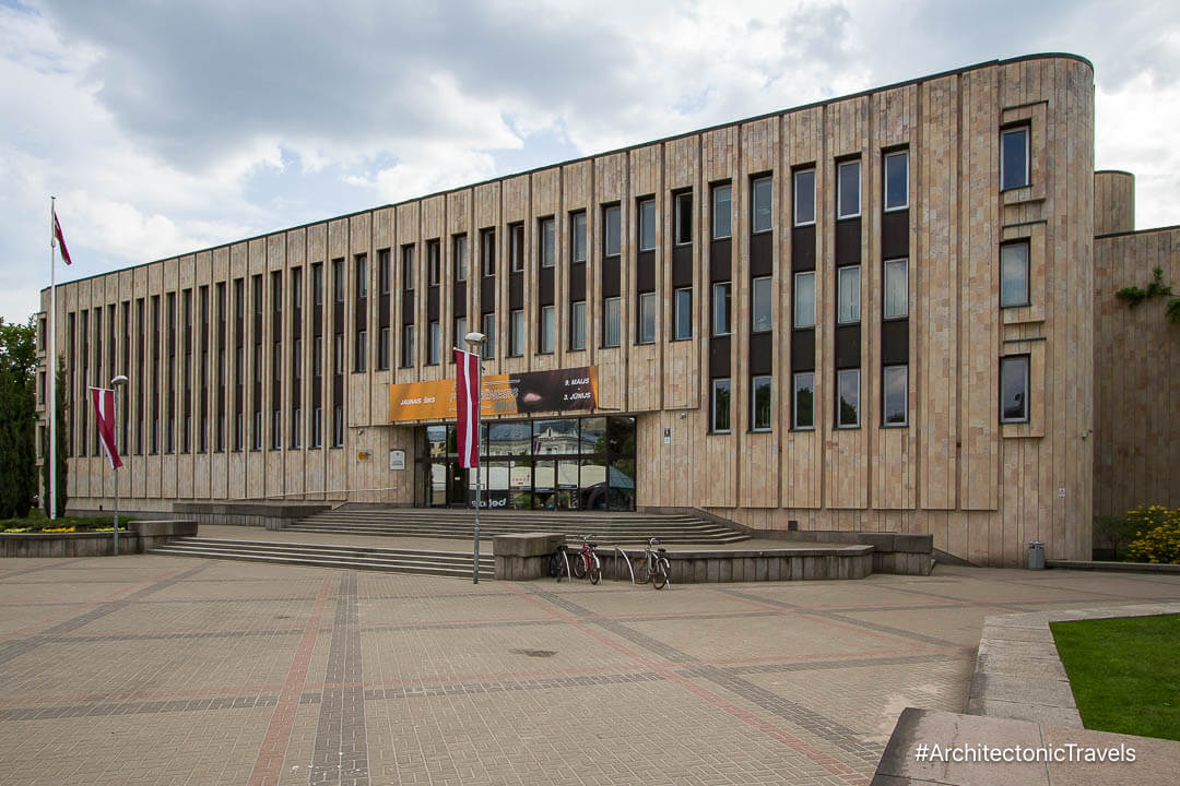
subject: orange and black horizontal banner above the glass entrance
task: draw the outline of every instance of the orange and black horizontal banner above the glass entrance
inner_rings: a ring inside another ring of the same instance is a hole
[[[598,402],[598,369],[492,374],[483,378],[480,416],[590,410]],[[455,416],[454,379],[389,385],[389,422]]]

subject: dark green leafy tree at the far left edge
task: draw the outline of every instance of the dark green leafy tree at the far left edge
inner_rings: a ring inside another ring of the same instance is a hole
[[[0,318],[0,519],[28,515],[37,495],[37,330]]]

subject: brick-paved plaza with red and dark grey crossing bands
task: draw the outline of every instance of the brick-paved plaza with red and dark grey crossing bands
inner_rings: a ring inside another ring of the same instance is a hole
[[[964,709],[984,616],[1178,599],[946,566],[655,592],[5,560],[0,785],[866,784],[904,707]]]

